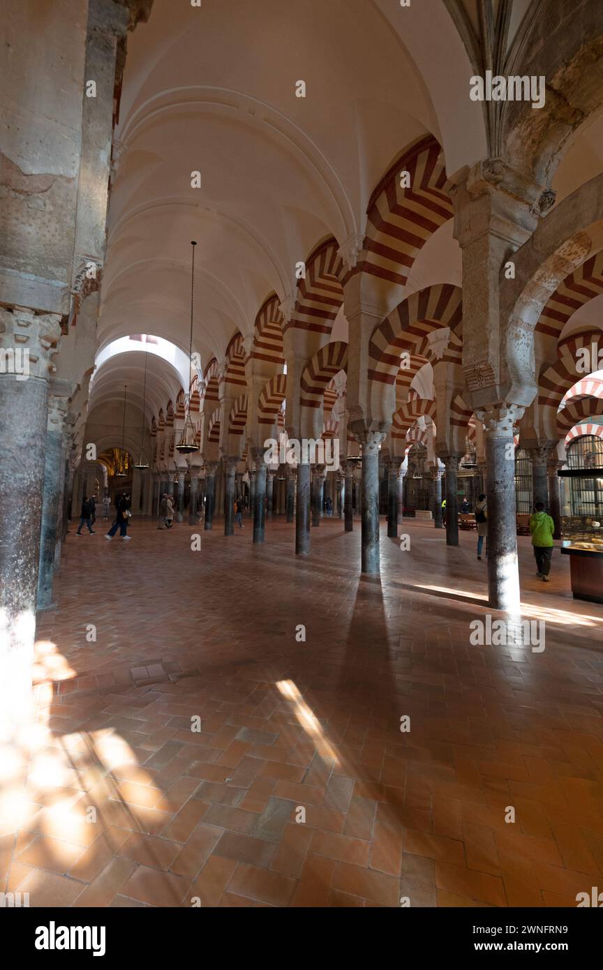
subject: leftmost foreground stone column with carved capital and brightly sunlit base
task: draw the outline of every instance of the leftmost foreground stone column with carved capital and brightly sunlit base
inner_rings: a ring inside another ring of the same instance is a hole
[[[30,713],[48,376],[60,335],[59,313],[0,307],[0,737]]]

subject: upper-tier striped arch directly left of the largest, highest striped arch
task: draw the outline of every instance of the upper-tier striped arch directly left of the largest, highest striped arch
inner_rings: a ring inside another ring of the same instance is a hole
[[[305,261],[305,278],[298,280],[296,306],[290,323],[318,334],[331,334],[333,320],[343,303],[343,263],[338,244],[331,237],[321,242]]]

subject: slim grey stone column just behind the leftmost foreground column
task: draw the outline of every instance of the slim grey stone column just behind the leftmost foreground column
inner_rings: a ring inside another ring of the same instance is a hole
[[[63,425],[67,416],[67,407],[68,398],[55,394],[48,395],[44,499],[38,570],[38,609],[48,609],[52,605],[52,582],[59,525],[61,481],[65,477]]]

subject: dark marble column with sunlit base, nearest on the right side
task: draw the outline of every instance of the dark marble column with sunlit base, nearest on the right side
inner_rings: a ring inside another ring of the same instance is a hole
[[[486,499],[488,501],[488,594],[493,609],[520,610],[515,503],[513,425],[522,407],[491,407],[479,411],[486,426]]]

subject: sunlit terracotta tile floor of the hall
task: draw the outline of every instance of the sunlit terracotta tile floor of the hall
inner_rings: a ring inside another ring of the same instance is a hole
[[[1,753],[1,889],[542,907],[602,885],[603,607],[571,598],[566,557],[545,586],[520,538],[532,653],[469,645],[489,612],[472,533],[448,549],[405,520],[400,551],[382,522],[379,582],[358,521],[323,520],[307,560],[282,519],[262,547],[217,521],[200,551],[188,525],[99,525],[72,528],[39,622],[40,723]]]

